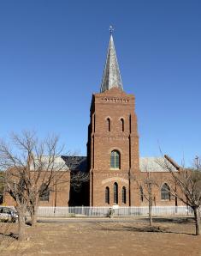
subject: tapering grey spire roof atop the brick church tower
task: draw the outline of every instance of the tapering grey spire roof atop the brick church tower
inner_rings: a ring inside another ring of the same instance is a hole
[[[123,90],[119,65],[115,54],[115,44],[111,34],[100,92],[103,93],[104,91],[114,87]]]

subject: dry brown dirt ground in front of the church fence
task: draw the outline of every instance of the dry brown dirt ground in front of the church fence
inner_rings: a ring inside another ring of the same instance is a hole
[[[25,242],[6,236],[0,255],[201,255],[201,235],[193,233],[192,220],[179,218],[157,219],[151,229],[142,220],[38,223],[27,226]]]

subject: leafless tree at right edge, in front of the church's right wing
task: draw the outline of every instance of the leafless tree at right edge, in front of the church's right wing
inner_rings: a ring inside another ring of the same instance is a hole
[[[200,206],[201,206],[201,165],[197,161],[196,167],[184,168],[178,166],[168,155],[158,162],[171,174],[175,186],[170,187],[170,193],[181,202],[191,207],[194,212],[196,235],[200,235]],[[171,165],[169,164],[171,163]]]

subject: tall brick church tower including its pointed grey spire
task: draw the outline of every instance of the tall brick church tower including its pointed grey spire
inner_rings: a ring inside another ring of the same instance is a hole
[[[135,98],[123,90],[112,34],[100,93],[92,95],[87,160],[90,205],[136,205],[133,176],[139,174]]]

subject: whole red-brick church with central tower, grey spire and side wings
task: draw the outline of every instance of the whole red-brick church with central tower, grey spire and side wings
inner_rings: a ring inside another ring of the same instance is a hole
[[[61,157],[67,165],[70,159],[70,156]],[[112,34],[100,93],[92,94],[87,156],[77,159],[66,175],[70,179],[76,171],[86,172],[89,182],[80,192],[74,191],[69,182],[63,184],[60,189],[50,191],[40,205],[147,206],[144,181],[148,176],[157,184],[152,186],[154,205],[180,204],[168,192],[171,177],[158,164],[160,158],[139,157],[135,97],[123,89]],[[8,198],[5,203],[11,204]]]

